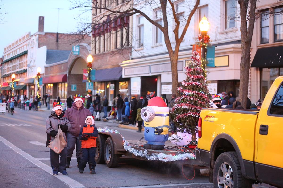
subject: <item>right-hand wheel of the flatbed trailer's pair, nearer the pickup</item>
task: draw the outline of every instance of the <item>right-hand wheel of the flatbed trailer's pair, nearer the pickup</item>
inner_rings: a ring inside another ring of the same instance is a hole
[[[119,162],[119,155],[115,154],[113,140],[110,137],[107,138],[104,145],[104,161],[110,168],[116,167]]]

